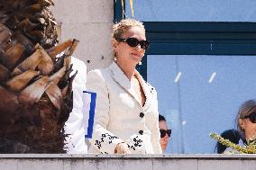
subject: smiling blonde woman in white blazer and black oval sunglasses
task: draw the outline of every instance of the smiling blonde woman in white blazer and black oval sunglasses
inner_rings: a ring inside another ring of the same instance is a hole
[[[87,90],[96,92],[89,152],[160,154],[157,93],[135,69],[149,47],[144,26],[125,19],[112,36],[114,62],[87,74]]]

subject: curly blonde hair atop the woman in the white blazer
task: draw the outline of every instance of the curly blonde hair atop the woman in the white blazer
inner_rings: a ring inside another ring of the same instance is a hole
[[[123,19],[120,22],[117,22],[113,25],[112,37],[114,39],[120,39],[122,38],[123,32],[128,31],[129,29],[135,26],[141,27],[145,31],[145,28],[142,22],[139,22],[131,18]]]

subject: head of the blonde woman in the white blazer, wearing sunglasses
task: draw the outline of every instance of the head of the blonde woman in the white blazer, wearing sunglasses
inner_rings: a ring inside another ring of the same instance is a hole
[[[113,26],[112,45],[116,63],[136,66],[149,47],[142,22],[123,19]]]

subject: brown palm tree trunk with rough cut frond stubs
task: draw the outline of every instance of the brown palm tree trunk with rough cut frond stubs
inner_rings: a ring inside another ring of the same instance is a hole
[[[51,0],[0,0],[0,153],[63,153],[72,110],[70,56]]]

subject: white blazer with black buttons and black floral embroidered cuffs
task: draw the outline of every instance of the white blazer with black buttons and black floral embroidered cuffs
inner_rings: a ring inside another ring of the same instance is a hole
[[[115,62],[87,74],[87,91],[96,92],[96,114],[89,153],[114,154],[126,142],[132,154],[161,154],[156,90],[136,71],[146,101],[142,106],[131,82]]]

